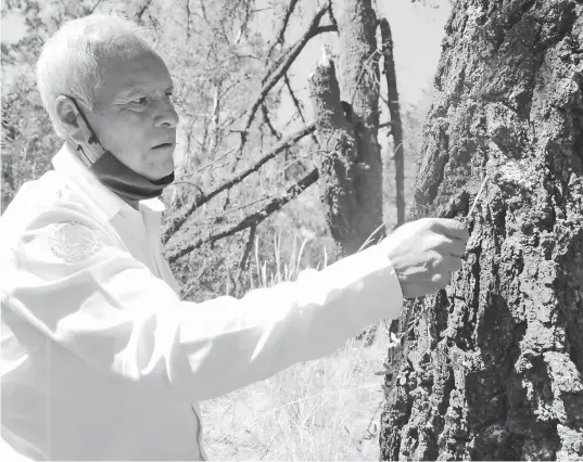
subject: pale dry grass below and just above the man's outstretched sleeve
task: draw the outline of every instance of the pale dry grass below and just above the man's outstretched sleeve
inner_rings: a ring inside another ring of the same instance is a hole
[[[280,242],[275,252],[279,260]],[[303,246],[302,246],[303,247]],[[296,248],[294,246],[294,248]],[[295,278],[301,249],[262,284]],[[287,267],[287,268],[286,268]],[[201,403],[212,460],[379,460],[378,421],[389,338],[380,328],[364,347],[348,339],[334,355]]]

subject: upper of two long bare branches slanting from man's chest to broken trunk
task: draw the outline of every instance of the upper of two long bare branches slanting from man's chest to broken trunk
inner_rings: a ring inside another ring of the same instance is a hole
[[[316,129],[315,124],[309,124],[303,127],[301,130],[296,131],[295,133],[291,134],[290,137],[277,143],[266,155],[264,155],[259,161],[257,161],[246,170],[236,175],[230,180],[225,181],[221,185],[219,185],[218,188],[216,188],[214,191],[210,192],[208,194],[198,195],[192,201],[192,203],[187,206],[187,209],[182,214],[170,218],[170,224],[164,230],[162,242],[166,244],[168,240],[182,227],[182,224],[185,224],[185,222],[188,220],[190,215],[192,215],[192,213],[198,207],[207,203],[211,198],[221,193],[223,191],[226,191],[232,188],[235,184],[239,183],[240,181],[242,181],[244,178],[246,178],[254,171],[257,171],[265,163],[274,158],[280,152],[295,144],[302,138],[306,137],[309,133],[313,133],[315,129]]]

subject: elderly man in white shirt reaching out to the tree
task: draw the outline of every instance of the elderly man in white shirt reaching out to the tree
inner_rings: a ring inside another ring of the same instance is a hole
[[[204,460],[197,401],[333,352],[460,268],[467,228],[423,219],[296,282],[182,301],[160,242],[178,124],[163,60],[91,15],[37,77],[64,144],[0,221],[4,460]]]

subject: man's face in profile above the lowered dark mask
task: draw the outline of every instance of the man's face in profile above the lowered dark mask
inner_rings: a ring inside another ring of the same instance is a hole
[[[143,47],[110,59],[88,119],[99,141],[150,180],[174,171],[178,115],[173,81],[162,59]]]

